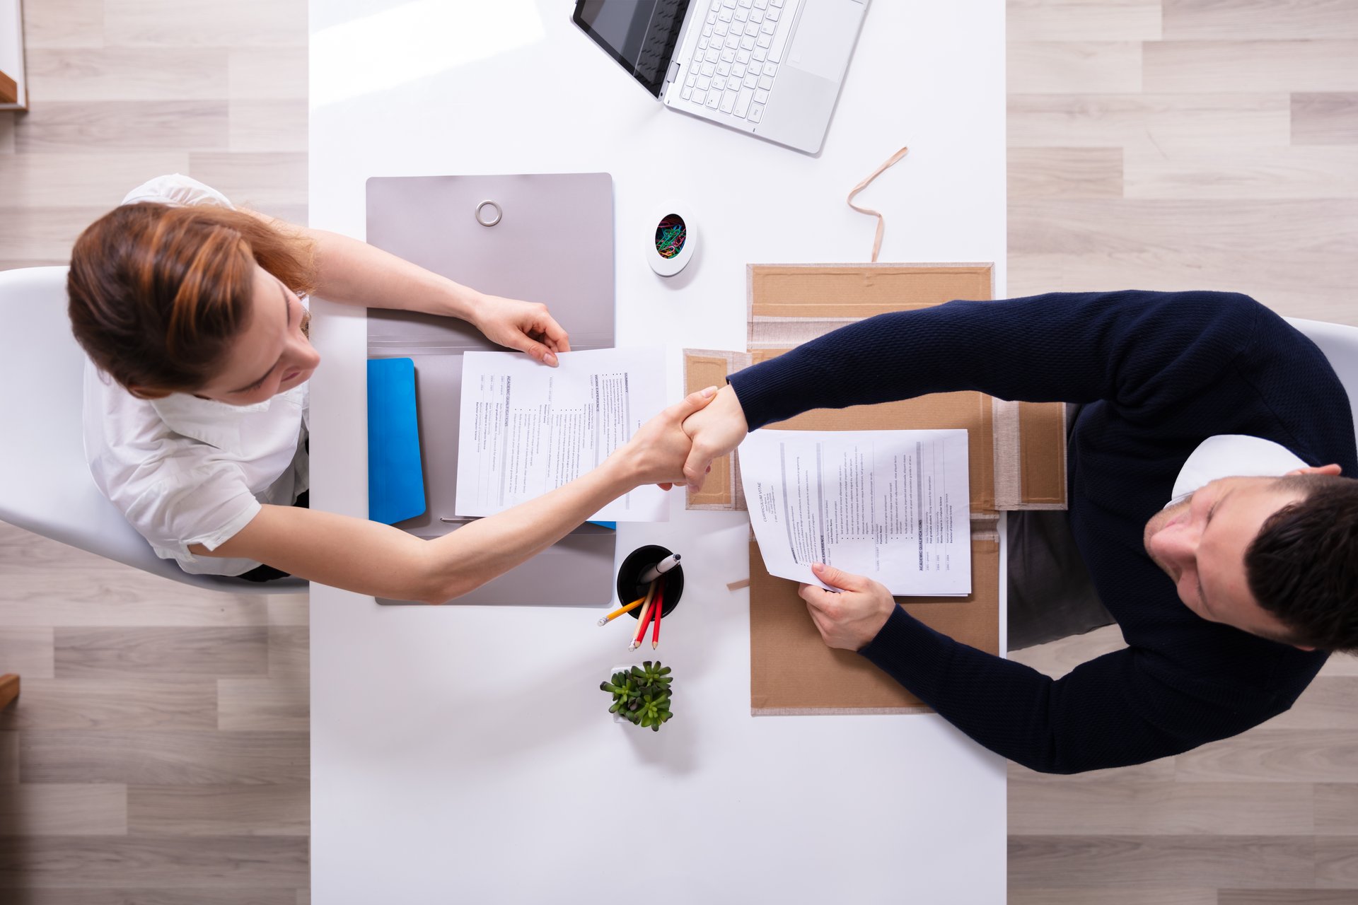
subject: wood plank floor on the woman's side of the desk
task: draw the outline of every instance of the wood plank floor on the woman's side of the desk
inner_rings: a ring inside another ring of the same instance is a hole
[[[306,0],[27,0],[0,269],[137,183],[307,214]],[[3,442],[3,441],[0,441]],[[0,525],[0,902],[310,901],[306,596],[197,592]]]

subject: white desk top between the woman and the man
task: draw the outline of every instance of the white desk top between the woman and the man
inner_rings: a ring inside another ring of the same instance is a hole
[[[611,172],[618,342],[674,349],[678,392],[678,349],[744,346],[747,262],[866,259],[845,194],[910,144],[862,198],[881,259],[994,261],[1004,292],[1002,0],[875,0],[819,159],[664,110],[569,8],[312,0],[311,224],[361,237],[371,175]],[[703,244],[664,281],[640,236],[671,197]],[[363,517],[364,317],[316,311],[312,505]],[[660,733],[607,715],[626,644],[593,611],[312,589],[314,901],[1004,901],[1001,758],[933,715],[750,716],[748,592],[727,590],[747,531],[676,495],[618,532],[619,558],[693,563]],[[619,855],[631,826],[663,834],[650,870]]]

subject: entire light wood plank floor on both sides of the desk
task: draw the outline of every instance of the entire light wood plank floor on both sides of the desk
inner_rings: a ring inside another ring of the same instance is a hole
[[[880,0],[887,1],[887,0]],[[895,1],[895,0],[892,0]],[[0,269],[186,172],[306,217],[304,0],[30,0]],[[1222,288],[1358,324],[1358,0],[1010,0],[1009,289]],[[870,27],[870,16],[869,16]],[[0,525],[0,902],[307,901],[304,597]],[[1021,651],[1059,673],[1116,628]],[[1358,902],[1358,665],[1238,739],[1013,768],[1014,905]]]

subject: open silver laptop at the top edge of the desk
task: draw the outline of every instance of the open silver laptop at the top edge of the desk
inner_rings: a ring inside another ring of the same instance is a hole
[[[671,110],[818,153],[866,0],[576,0],[572,20]]]

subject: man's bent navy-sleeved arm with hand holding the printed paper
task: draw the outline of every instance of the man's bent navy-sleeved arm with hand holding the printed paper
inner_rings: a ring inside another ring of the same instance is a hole
[[[827,644],[858,651],[980,745],[1044,773],[1177,754],[1286,708],[1259,688],[1211,685],[1134,649],[1052,680],[936,632],[879,582],[819,564],[815,570],[842,589],[801,586]]]

